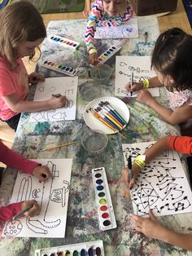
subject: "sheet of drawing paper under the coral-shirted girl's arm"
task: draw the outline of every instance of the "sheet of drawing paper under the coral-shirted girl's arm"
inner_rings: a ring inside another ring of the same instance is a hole
[[[63,108],[50,109],[31,113],[29,121],[62,121],[76,119],[76,93],[78,77],[50,77],[39,82],[34,101],[50,99],[52,95],[65,95],[66,104]]]

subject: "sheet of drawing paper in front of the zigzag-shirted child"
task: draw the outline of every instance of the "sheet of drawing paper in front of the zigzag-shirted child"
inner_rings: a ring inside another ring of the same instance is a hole
[[[138,38],[137,18],[128,20],[120,26],[97,27],[94,33],[96,39]]]

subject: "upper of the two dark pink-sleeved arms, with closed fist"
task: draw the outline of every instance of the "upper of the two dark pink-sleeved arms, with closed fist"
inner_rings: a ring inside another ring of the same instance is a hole
[[[46,182],[50,178],[50,170],[47,166],[41,166],[35,161],[28,160],[7,148],[5,144],[0,141],[0,161],[5,165],[22,170],[25,173],[33,174],[37,179]],[[44,175],[42,175],[44,174]],[[44,176],[44,177],[43,177]]]

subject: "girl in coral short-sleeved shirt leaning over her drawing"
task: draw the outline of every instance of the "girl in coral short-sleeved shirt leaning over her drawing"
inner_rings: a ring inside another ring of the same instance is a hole
[[[22,112],[61,108],[66,97],[27,101],[28,83],[44,81],[39,73],[29,76],[21,60],[32,60],[35,48],[46,38],[41,15],[32,4],[13,2],[0,11],[0,119],[16,130]]]

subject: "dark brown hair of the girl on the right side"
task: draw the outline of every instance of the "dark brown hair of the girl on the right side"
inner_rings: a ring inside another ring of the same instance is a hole
[[[151,58],[151,68],[171,75],[169,90],[192,88],[192,36],[181,29],[168,29],[159,35]]]

